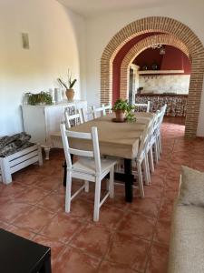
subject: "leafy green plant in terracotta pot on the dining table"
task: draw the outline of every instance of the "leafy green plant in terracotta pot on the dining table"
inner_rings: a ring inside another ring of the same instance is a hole
[[[135,106],[132,106],[126,99],[119,98],[114,103],[112,110],[115,112],[115,121],[124,122],[127,120],[128,122],[135,122],[136,117],[132,110],[135,109]]]

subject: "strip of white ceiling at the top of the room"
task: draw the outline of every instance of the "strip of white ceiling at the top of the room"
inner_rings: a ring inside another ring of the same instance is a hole
[[[58,0],[63,5],[79,15],[86,17],[99,15],[105,12],[120,11],[131,8],[152,7],[166,5],[176,0]]]

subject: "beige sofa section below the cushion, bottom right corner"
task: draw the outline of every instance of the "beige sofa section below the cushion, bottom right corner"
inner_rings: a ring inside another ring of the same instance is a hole
[[[204,272],[204,208],[176,205],[168,273]]]

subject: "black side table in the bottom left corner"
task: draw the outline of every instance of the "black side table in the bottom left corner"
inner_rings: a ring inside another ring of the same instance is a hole
[[[0,272],[52,273],[51,248],[0,228]]]

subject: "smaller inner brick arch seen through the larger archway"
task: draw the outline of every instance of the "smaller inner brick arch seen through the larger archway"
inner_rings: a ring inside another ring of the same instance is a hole
[[[132,61],[136,56],[140,55],[143,50],[154,44],[172,45],[177,47],[190,59],[187,46],[184,45],[175,35],[152,35],[141,40],[139,43],[131,47],[121,62],[120,97],[125,99],[128,98],[129,66],[131,65]]]

